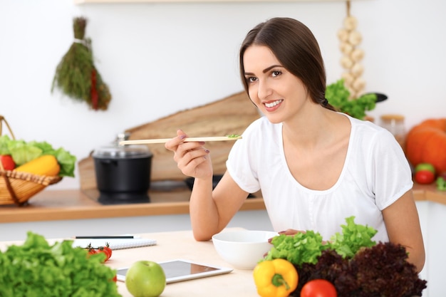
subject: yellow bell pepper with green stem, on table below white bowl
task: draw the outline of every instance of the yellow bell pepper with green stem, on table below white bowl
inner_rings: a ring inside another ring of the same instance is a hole
[[[257,293],[261,297],[287,297],[297,288],[299,276],[285,259],[262,261],[253,271]]]

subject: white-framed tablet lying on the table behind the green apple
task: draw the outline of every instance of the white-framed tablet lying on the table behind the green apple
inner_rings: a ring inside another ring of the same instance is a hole
[[[229,273],[233,269],[227,267],[213,266],[196,261],[185,259],[175,259],[170,261],[158,262],[166,274],[166,283],[175,283],[177,281],[188,281],[195,278],[204,278],[207,276],[216,276]],[[125,273],[129,267],[117,269],[116,278],[118,281],[125,281]]]

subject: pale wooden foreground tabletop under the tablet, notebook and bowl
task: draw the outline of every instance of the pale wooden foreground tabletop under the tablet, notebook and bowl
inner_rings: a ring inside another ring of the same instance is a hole
[[[239,228],[225,229],[230,231]],[[214,249],[212,241],[195,241],[192,231],[172,231],[151,234],[138,234],[145,238],[155,239],[157,245],[135,249],[114,250],[110,260],[105,265],[113,269],[128,267],[135,261],[167,261],[172,259],[187,259],[214,266],[231,267]],[[58,239],[48,240],[52,243]],[[19,241],[0,242],[0,249],[6,249],[10,244]],[[123,297],[132,297],[125,283],[118,281],[118,291]],[[209,276],[191,281],[170,283],[161,294],[162,297],[227,297],[243,296],[258,297],[252,270],[234,269],[234,271]]]

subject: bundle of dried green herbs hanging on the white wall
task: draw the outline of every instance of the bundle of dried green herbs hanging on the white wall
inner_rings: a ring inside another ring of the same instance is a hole
[[[74,41],[56,68],[53,85],[65,95],[85,101],[93,110],[107,110],[111,95],[93,63],[90,38],[85,38],[87,19],[73,19]]]

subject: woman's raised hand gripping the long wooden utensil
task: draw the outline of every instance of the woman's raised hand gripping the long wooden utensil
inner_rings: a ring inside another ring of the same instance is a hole
[[[165,143],[165,148],[174,152],[173,159],[181,172],[189,177],[212,177],[212,162],[209,150],[203,147],[205,142],[183,142],[187,137],[182,130],[177,130],[177,137]]]

